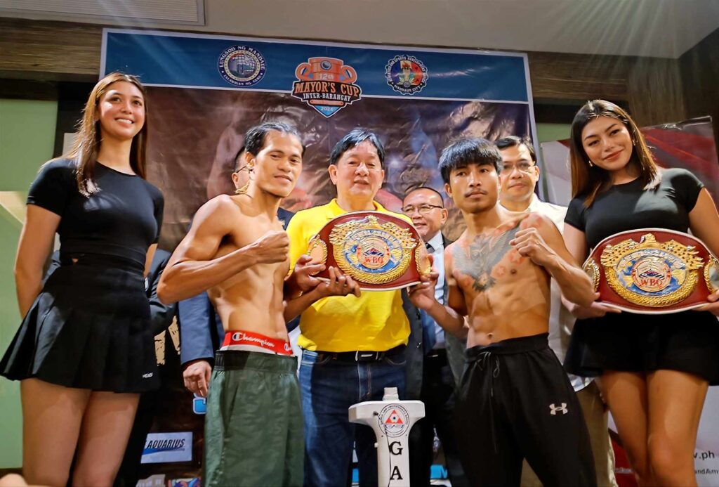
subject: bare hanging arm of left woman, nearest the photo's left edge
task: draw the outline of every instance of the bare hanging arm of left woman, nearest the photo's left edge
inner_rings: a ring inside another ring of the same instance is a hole
[[[42,289],[42,268],[55,242],[60,215],[35,204],[27,205],[27,216],[15,256],[17,304],[22,317]]]

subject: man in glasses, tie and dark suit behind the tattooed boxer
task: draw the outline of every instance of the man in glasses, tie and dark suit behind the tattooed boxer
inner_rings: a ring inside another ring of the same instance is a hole
[[[412,219],[427,250],[434,256],[434,268],[439,272],[435,295],[444,302],[444,247],[452,242],[440,231],[447,219],[442,196],[432,188],[416,188],[405,196],[402,209]],[[419,399],[425,406],[425,417],[414,425],[410,433],[411,484],[429,486],[436,429],[452,486],[468,485],[457,455],[453,424],[454,389],[462,374],[466,344],[451,334],[445,334],[423,311],[405,304],[405,311],[413,325],[407,347],[407,394],[408,399]],[[412,319],[413,314],[416,319]]]

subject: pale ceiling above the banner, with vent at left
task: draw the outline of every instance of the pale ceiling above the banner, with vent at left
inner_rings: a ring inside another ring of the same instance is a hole
[[[77,4],[77,0],[47,4]],[[187,0],[144,0],[143,5]],[[68,20],[3,0],[0,17]],[[37,3],[37,2],[36,2]],[[719,28],[717,0],[204,0],[204,24],[132,19],[118,0],[75,22],[324,41],[678,58]],[[201,5],[202,0],[198,0]],[[27,4],[26,4],[27,5]],[[191,9],[190,9],[191,10]],[[142,17],[142,12],[137,12]],[[175,16],[176,18],[176,16]]]

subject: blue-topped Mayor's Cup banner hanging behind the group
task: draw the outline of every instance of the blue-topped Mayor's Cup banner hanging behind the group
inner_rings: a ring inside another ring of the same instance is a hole
[[[260,122],[294,125],[307,146],[298,185],[283,201],[290,211],[334,198],[329,153],[354,127],[372,130],[385,145],[377,200],[395,211],[411,188],[444,194],[437,163],[452,139],[536,140],[521,53],[105,29],[101,76],[115,70],[139,76],[148,87],[147,176],[165,195],[160,247],[167,250],[185,235],[199,206],[234,191],[231,174],[244,133]],[[462,232],[459,220],[452,211],[449,237]],[[168,374],[179,378],[175,367],[168,365]],[[163,417],[152,431],[191,432],[194,455],[191,462],[142,465],[148,483],[151,475],[182,480],[199,474],[204,403],[182,394],[178,380],[170,383],[160,391],[169,409],[160,408]]]

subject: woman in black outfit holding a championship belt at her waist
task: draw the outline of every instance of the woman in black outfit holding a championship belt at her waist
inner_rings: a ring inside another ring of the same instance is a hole
[[[719,215],[687,170],[657,167],[636,124],[608,101],[572,122],[572,199],[564,225],[580,263],[605,237],[659,227],[692,233],[719,255]],[[708,385],[719,383],[719,293],[698,311],[619,313],[569,305],[574,325],[565,367],[599,376],[640,485],[696,485],[694,447]]]

